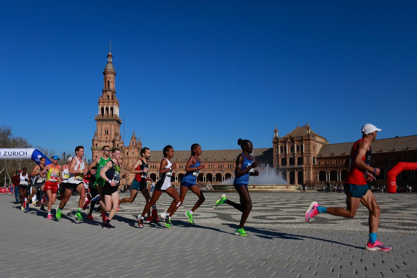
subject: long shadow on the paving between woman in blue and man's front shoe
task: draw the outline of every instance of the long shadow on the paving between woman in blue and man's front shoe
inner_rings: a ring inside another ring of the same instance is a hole
[[[231,224],[231,223],[223,223],[222,225],[227,225],[231,228],[237,229],[238,225],[236,224]],[[334,241],[334,240],[327,240],[327,239],[323,239],[323,238],[315,238],[312,236],[307,236],[307,235],[293,235],[293,234],[289,234],[289,233],[281,233],[278,232],[277,230],[273,230],[273,229],[260,229],[260,228],[253,228],[253,227],[245,227],[245,230],[247,232],[251,232],[251,233],[256,233],[256,236],[260,237],[260,238],[266,238],[266,239],[274,239],[274,238],[282,238],[282,239],[292,239],[292,240],[304,240],[304,238],[309,238],[309,239],[314,239],[314,240],[321,240],[321,241],[325,241],[325,242],[329,242],[329,243],[336,243],[336,244],[341,244],[341,245],[346,245],[349,247],[353,247],[353,248],[357,248],[357,249],[365,249],[363,246],[354,246],[354,245],[350,245],[347,243],[342,243],[342,242],[338,242],[338,241]]]

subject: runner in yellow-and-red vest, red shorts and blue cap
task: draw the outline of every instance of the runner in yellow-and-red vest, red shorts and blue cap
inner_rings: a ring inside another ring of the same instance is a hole
[[[61,183],[59,175],[60,166],[58,165],[58,161],[58,155],[54,155],[52,157],[52,163],[46,165],[40,172],[40,176],[44,176],[45,172],[48,171],[45,180],[45,192],[46,195],[48,195],[48,215],[46,216],[47,219],[52,219],[51,209],[52,205],[55,204],[56,193],[58,193],[58,184]]]

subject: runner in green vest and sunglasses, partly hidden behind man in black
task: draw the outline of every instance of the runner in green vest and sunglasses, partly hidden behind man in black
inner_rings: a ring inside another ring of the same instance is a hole
[[[105,180],[103,180],[100,177],[100,171],[104,168],[104,165],[108,163],[111,160],[110,157],[110,147],[109,146],[103,146],[101,148],[103,151],[103,156],[100,158],[96,158],[93,160],[93,163],[88,166],[88,170],[92,175],[95,175],[95,182],[90,186],[90,194],[93,199],[91,199],[91,205],[90,205],[90,212],[88,213],[87,218],[90,220],[93,220],[93,209],[95,204],[99,203],[100,209],[101,209],[101,217],[103,220],[103,223],[106,223],[107,217],[106,217],[106,205],[104,204],[104,195],[103,195],[103,186],[105,183]]]

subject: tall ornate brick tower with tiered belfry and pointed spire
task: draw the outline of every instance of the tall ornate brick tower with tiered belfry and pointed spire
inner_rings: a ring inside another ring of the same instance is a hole
[[[107,64],[104,68],[104,86],[102,94],[98,98],[98,115],[95,116],[97,131],[94,134],[91,151],[93,159],[101,156],[101,148],[108,145],[123,149],[123,140],[120,137],[119,100],[116,97],[115,77],[116,71],[113,67],[113,55],[111,44],[107,54]],[[123,152],[123,150],[122,150]]]

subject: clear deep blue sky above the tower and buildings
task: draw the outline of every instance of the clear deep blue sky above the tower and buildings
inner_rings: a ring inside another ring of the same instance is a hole
[[[307,121],[330,143],[364,123],[417,134],[412,1],[89,2],[2,4],[0,124],[33,145],[90,148],[110,39],[127,142],[265,148]]]

